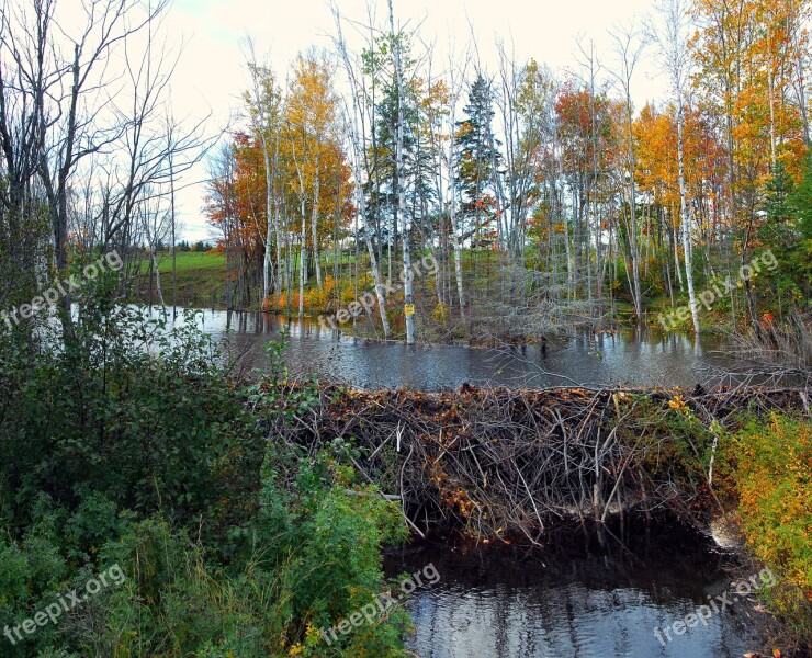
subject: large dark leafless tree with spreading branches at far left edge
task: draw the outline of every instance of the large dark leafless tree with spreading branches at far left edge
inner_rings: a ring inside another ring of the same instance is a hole
[[[60,22],[54,0],[36,1],[27,8],[7,5],[3,11],[0,136],[11,194],[19,203],[20,194],[37,174],[48,202],[59,270],[68,264],[72,175],[82,160],[114,143],[138,118],[102,112],[97,92],[112,82],[113,75],[106,63],[115,46],[151,29],[167,4],[160,0],[143,11],[136,0],[97,0],[82,5],[79,21],[71,21],[78,30]],[[57,44],[60,37],[67,47]],[[151,32],[148,42],[147,48]],[[10,116],[12,112],[15,117]]]

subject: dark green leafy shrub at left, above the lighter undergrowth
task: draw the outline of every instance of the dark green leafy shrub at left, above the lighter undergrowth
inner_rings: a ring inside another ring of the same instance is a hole
[[[92,489],[204,533],[244,523],[262,441],[216,359],[191,314],[168,330],[132,308],[87,309],[61,349],[20,355],[0,419],[5,487],[69,510]]]

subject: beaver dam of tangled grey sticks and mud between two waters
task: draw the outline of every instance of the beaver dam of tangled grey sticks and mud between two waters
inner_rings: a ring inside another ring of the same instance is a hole
[[[341,450],[420,536],[454,530],[531,543],[565,523],[600,529],[630,515],[707,526],[722,513],[714,485],[730,432],[754,416],[810,411],[809,388],[317,395],[315,408],[269,426],[269,438]]]

